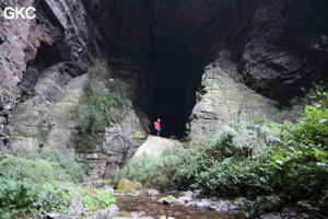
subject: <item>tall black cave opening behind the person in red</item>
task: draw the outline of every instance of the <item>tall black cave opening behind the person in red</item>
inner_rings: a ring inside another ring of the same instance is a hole
[[[183,139],[201,83],[201,60],[188,54],[185,38],[174,31],[150,26],[149,39],[140,61],[137,105],[148,114],[151,135],[156,135],[154,122],[160,118],[161,137]]]

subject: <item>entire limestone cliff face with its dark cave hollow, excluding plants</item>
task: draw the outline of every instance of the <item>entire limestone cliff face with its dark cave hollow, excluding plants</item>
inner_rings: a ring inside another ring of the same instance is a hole
[[[0,135],[19,153],[75,154],[77,108],[96,72],[124,82],[129,111],[81,154],[112,177],[163,122],[163,135],[204,135],[223,123],[272,118],[327,82],[326,0],[13,0],[35,20],[0,18]],[[102,61],[98,61],[102,60]],[[274,100],[273,102],[269,99]],[[20,104],[19,104],[20,103]],[[13,128],[11,128],[13,127]]]

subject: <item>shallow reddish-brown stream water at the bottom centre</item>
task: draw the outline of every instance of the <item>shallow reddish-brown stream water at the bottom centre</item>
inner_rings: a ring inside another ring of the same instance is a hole
[[[167,196],[165,194],[164,196]],[[157,199],[164,196],[157,196],[154,199],[149,196],[119,196],[116,198],[116,205],[120,211],[144,212],[144,216],[159,218],[162,215],[176,219],[230,219],[234,218],[233,212],[203,210],[196,207],[173,206],[159,204]]]

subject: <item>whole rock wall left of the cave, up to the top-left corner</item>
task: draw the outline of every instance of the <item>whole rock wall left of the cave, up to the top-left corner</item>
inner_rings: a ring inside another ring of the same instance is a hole
[[[106,45],[80,0],[14,0],[0,4],[1,14],[5,7],[36,8],[34,20],[0,18],[2,150],[33,157],[44,147],[56,147],[67,157],[74,157],[77,111],[84,85],[103,83],[103,76],[96,72],[120,74],[126,81],[124,90],[133,100],[138,81],[134,67],[129,69],[131,64],[127,65],[124,57],[112,58],[112,69],[106,67],[107,60],[97,60],[105,56]],[[120,112],[126,115],[122,123],[106,129],[101,146],[82,154],[94,166],[90,170],[93,178],[112,177],[141,145],[144,131],[131,107],[130,102],[127,112]]]

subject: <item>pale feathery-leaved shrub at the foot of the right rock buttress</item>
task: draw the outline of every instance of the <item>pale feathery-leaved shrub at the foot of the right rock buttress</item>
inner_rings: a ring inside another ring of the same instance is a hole
[[[279,125],[273,123],[224,125],[213,135],[196,141],[199,145],[197,151],[216,161],[230,157],[249,157],[279,142],[281,132]]]

